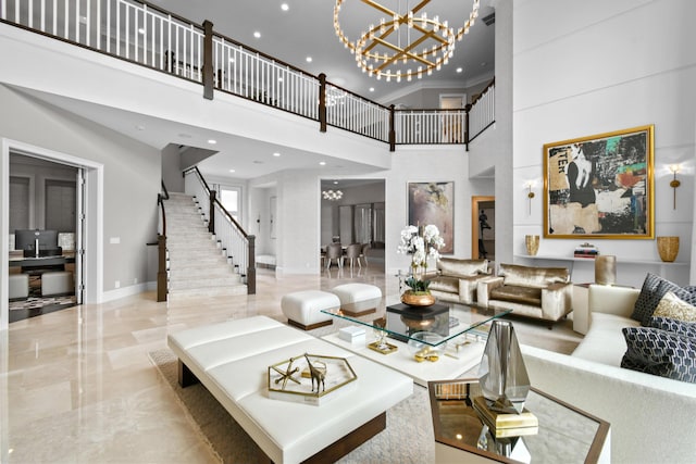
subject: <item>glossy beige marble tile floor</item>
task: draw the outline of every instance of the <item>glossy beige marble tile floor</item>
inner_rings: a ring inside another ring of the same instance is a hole
[[[0,333],[0,462],[216,462],[148,353],[184,328],[257,314],[285,321],[283,294],[348,281],[398,291],[376,266],[282,278],[259,269],[254,296],[167,304],[145,292],[12,323]],[[559,351],[580,340],[569,327],[550,331]]]

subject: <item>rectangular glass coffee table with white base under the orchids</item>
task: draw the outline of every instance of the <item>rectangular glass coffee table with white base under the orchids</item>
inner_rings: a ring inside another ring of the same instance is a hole
[[[340,310],[323,310],[349,325],[364,328],[365,341],[347,341],[338,333],[322,338],[400,371],[425,387],[431,380],[455,378],[476,366],[490,322],[511,311],[459,303],[426,308],[394,303],[387,304],[384,314],[375,318],[375,314],[350,316]]]

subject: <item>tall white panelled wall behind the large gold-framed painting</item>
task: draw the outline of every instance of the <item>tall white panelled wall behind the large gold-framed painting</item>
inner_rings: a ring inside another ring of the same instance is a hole
[[[543,236],[544,143],[655,124],[655,230],[678,235],[678,261],[692,261],[696,2],[614,0],[513,3],[514,253],[524,235]],[[497,18],[496,18],[497,20]],[[499,80],[498,80],[499,81]],[[681,163],[678,209],[668,165]],[[525,185],[536,180],[529,214]],[[539,254],[570,256],[584,239],[542,239]],[[592,240],[616,254],[620,284],[639,286],[646,271],[687,280],[687,266],[629,266],[622,259],[659,262],[654,240]],[[538,263],[537,263],[538,264]],[[583,276],[592,281],[593,274]],[[581,277],[574,277],[579,280]]]

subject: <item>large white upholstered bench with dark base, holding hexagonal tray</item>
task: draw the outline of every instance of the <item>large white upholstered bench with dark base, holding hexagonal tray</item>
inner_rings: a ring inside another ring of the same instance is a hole
[[[169,336],[179,384],[196,380],[274,463],[334,462],[386,427],[386,410],[413,392],[410,377],[265,316],[196,327]],[[351,388],[321,405],[271,399],[270,365],[302,353],[345,358]]]

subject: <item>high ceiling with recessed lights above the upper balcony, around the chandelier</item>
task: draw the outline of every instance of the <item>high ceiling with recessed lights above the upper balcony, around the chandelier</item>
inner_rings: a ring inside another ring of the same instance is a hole
[[[477,84],[494,74],[495,24],[484,17],[494,13],[489,0],[481,1],[478,18],[464,39],[457,42],[449,64],[421,80],[400,84],[377,80],[363,74],[353,55],[335,35],[332,0],[152,0],[153,4],[201,24],[213,23],[213,29],[234,40],[275,57],[311,74],[326,74],[340,87],[378,102],[391,102],[400,95],[419,88],[461,88]],[[282,5],[287,4],[287,11]],[[393,11],[406,11],[420,0],[380,0]],[[450,27],[461,27],[469,17],[473,0],[430,0],[421,12],[428,17],[447,20]],[[339,20],[351,40],[370,24],[378,24],[384,14],[359,0],[345,0]],[[402,28],[403,29],[403,28]],[[260,38],[254,38],[254,33]],[[307,58],[312,61],[308,62]],[[462,72],[458,73],[457,70]],[[374,91],[370,91],[374,88]]]

